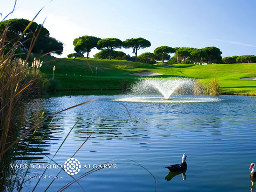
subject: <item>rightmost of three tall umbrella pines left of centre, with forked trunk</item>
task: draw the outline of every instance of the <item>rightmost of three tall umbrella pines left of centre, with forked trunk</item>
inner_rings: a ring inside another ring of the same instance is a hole
[[[150,47],[151,46],[151,43],[146,40],[146,39],[143,39],[141,37],[139,38],[131,38],[131,39],[126,39],[124,42],[123,42],[123,47],[124,48],[132,48],[132,52],[135,53],[135,61],[137,61],[137,51],[141,48],[141,49],[144,49],[146,47]]]

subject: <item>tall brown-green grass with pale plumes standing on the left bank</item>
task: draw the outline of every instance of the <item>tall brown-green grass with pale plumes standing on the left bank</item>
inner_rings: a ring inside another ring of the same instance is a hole
[[[23,34],[32,22],[33,20]],[[38,94],[37,88],[41,83],[39,69],[42,63],[34,60],[32,66],[28,67],[28,59],[42,26],[37,28],[34,36],[31,37],[25,60],[19,58],[24,55],[17,53],[24,43],[22,35],[7,39],[10,27],[9,23],[4,32],[0,34],[0,159],[8,146],[16,139],[14,135],[17,135],[16,132],[19,130],[18,122],[22,117],[25,100],[31,94]]]

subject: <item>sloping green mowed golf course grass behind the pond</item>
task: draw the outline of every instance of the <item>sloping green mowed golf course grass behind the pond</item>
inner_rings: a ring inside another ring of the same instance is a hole
[[[45,56],[41,60],[49,61],[52,59],[55,58]],[[52,76],[54,65],[56,66],[54,77],[60,82],[61,90],[121,89],[124,82],[129,84],[138,78],[148,78],[148,76],[130,75],[132,73],[157,72],[163,75],[150,77],[191,77],[202,79],[202,81],[217,77],[222,82],[222,94],[256,95],[256,80],[240,79],[256,76],[255,63],[219,65],[176,64],[172,66],[177,68],[167,68],[126,60],[87,60],[85,58],[76,58],[74,60],[72,58],[63,58],[44,63],[41,71],[50,77]],[[96,67],[98,76],[96,76]]]

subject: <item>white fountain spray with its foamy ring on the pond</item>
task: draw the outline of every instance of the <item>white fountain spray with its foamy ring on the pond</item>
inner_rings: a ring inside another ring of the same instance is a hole
[[[196,81],[189,78],[140,79],[130,87],[130,95],[115,98],[120,102],[143,103],[196,103],[218,102],[219,98],[194,95]],[[163,95],[159,97],[157,95]],[[170,98],[170,96],[172,96]]]

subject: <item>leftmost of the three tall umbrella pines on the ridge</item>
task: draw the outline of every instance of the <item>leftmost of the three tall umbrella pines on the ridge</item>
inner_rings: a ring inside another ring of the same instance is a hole
[[[87,59],[89,58],[89,52],[97,46],[98,41],[100,38],[94,36],[81,36],[76,38],[73,41],[73,45],[75,46],[74,50],[77,53],[84,54],[87,52]]]

